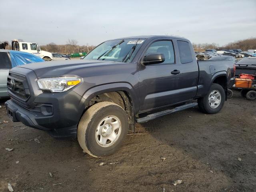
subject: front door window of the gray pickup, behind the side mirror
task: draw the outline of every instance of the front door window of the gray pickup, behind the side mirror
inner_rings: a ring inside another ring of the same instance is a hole
[[[146,54],[149,53],[162,53],[164,54],[164,62],[163,63],[169,63],[174,64],[174,49],[172,45],[172,41],[156,41],[152,43],[148,50],[146,51]]]

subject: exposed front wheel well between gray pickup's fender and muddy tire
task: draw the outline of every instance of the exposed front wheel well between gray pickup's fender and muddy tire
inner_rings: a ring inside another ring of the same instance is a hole
[[[103,101],[113,102],[121,106],[126,111],[126,114],[128,116],[129,130],[132,132],[135,131],[134,107],[128,92],[114,91],[114,92],[107,92],[107,93],[94,96],[86,105],[85,110],[90,108],[90,106]]]

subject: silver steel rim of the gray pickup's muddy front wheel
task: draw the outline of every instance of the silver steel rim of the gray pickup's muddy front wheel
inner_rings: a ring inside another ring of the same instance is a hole
[[[95,132],[95,139],[99,146],[110,147],[120,137],[122,124],[116,116],[106,116],[103,118]]]

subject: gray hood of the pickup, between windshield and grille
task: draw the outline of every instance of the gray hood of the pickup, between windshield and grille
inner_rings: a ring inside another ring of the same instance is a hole
[[[58,77],[80,74],[80,71],[84,68],[95,68],[98,66],[106,66],[120,64],[120,62],[114,61],[102,61],[102,60],[61,60],[61,61],[48,61],[31,63],[18,68],[27,68],[33,70],[38,78],[46,77]],[[16,67],[17,68],[17,67]],[[100,68],[98,68],[100,69]]]

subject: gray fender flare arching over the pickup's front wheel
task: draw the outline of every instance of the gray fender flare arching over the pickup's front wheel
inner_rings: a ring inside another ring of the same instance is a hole
[[[83,94],[83,98],[86,100],[86,104],[94,98],[94,96],[97,96],[99,94],[113,92],[113,91],[125,91],[129,94],[131,104],[134,107],[134,112],[137,113],[139,110],[139,101],[138,96],[136,95],[136,92],[134,88],[126,82],[119,82],[119,83],[111,83],[111,84],[103,84],[99,86],[92,87],[88,89]]]

